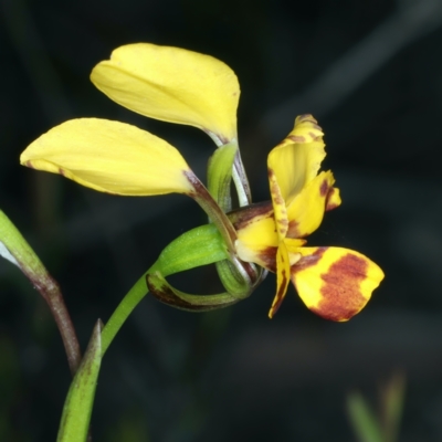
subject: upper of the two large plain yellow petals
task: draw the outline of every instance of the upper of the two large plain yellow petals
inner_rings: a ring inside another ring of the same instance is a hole
[[[138,114],[199,127],[224,144],[236,138],[238,78],[212,56],[128,44],[98,63],[91,80],[109,98]]]

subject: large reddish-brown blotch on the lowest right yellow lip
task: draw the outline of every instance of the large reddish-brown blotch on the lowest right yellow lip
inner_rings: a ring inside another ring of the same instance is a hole
[[[356,315],[367,303],[360,283],[367,277],[367,262],[347,253],[320,275],[324,296],[316,308],[317,315],[330,320],[346,320]]]

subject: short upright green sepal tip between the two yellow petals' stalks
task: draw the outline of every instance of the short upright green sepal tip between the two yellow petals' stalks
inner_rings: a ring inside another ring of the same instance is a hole
[[[235,143],[220,146],[208,164],[208,190],[223,212],[232,209],[230,182],[236,152],[238,145]]]

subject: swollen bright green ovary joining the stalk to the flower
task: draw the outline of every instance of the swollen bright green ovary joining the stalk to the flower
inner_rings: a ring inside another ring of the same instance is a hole
[[[149,273],[159,271],[164,276],[168,276],[228,257],[227,245],[217,227],[206,224],[189,230],[167,245]]]

